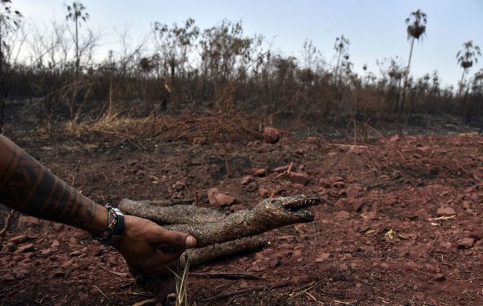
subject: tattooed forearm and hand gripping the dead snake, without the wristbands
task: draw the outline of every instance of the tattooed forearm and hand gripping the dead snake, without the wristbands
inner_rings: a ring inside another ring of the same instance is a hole
[[[0,203],[19,212],[62,222],[97,235],[106,229],[107,209],[97,205],[52,174],[19,146],[0,135]],[[175,251],[163,252],[158,244]],[[162,274],[193,237],[167,231],[150,220],[126,216],[121,239],[115,245],[132,270]]]

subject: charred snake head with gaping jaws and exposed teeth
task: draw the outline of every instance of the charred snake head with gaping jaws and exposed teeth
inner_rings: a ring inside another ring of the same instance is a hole
[[[314,220],[314,213],[308,207],[318,203],[320,203],[320,197],[316,194],[297,194],[265,199],[261,202],[261,206],[263,210],[270,212],[272,218],[299,223]]]

